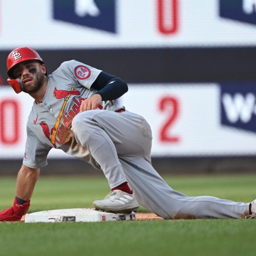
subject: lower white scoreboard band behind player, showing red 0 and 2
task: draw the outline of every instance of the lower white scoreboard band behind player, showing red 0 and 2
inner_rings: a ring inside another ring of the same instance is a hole
[[[243,84],[129,84],[118,99],[150,123],[152,156],[256,154],[256,87]],[[23,157],[33,99],[0,88],[0,158]],[[35,124],[39,125],[39,124]],[[49,157],[68,157],[51,150]]]

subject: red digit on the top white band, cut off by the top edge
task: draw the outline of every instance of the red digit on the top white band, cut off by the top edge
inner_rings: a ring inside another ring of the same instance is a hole
[[[158,30],[175,34],[178,30],[178,0],[157,0]]]

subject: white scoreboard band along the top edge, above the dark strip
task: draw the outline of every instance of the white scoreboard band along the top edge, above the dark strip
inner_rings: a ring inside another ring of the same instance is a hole
[[[1,0],[0,4],[2,50],[17,44],[37,49],[256,46],[255,0]]]

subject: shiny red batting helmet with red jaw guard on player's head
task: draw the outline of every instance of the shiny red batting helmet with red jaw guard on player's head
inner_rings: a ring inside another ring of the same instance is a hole
[[[10,86],[16,93],[23,91],[22,82],[19,79],[12,79],[12,69],[18,63],[25,60],[38,60],[40,63],[45,63],[40,55],[29,47],[19,47],[10,52],[7,57],[7,74],[11,78],[7,79]]]

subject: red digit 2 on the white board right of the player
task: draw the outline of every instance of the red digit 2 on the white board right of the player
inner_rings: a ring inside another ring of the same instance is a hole
[[[179,115],[178,100],[170,96],[161,98],[159,102],[159,110],[168,113],[168,118],[160,129],[160,141],[173,143],[179,142],[180,138],[178,136],[169,135],[170,127],[174,124]]]

